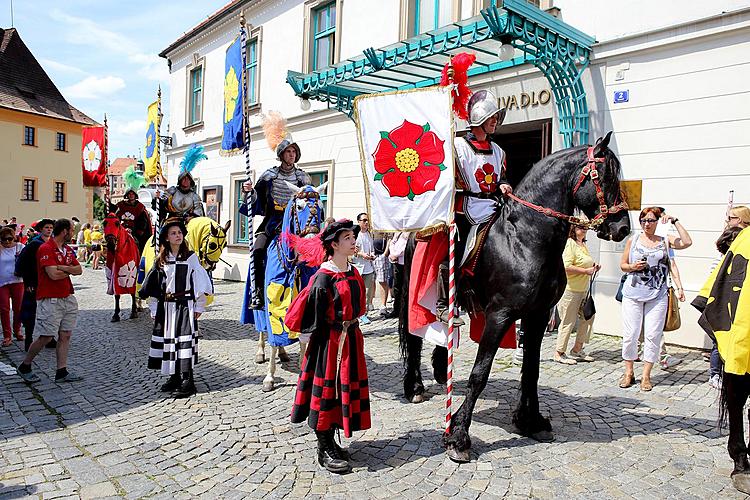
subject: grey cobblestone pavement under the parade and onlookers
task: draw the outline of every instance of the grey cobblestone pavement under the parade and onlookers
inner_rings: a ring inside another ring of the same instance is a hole
[[[373,427],[346,440],[354,470],[336,476],[315,462],[310,429],[289,422],[296,347],[279,388],[260,390],[267,365],[254,363],[257,336],[237,322],[241,284],[216,284],[216,305],[201,319],[200,393],[174,400],[159,392],[164,377],[146,369],[147,314],[112,324],[103,272],[87,269],[76,281],[70,367],[85,380],[56,384],[51,350],[37,357],[42,381],[33,386],[0,365],[0,498],[740,496],[697,352],[674,349],[685,362],[655,369],[654,390],[641,393],[617,387],[616,338],[595,336],[597,361],[572,367],[549,360],[546,338],[540,399],[557,440],[542,444],[514,432],[519,369],[501,351],[474,412],[474,461],[458,466],[441,446],[444,388],[430,382],[426,402],[407,403],[395,320],[373,321],[365,327]],[[2,349],[0,363],[17,366],[21,344]],[[458,403],[475,353],[470,341],[456,353]]]

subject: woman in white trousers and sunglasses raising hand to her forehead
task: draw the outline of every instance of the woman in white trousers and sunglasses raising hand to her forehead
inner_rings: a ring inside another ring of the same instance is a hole
[[[655,234],[662,216],[659,207],[646,207],[639,216],[642,233],[630,237],[620,258],[620,269],[628,273],[622,287],[622,359],[625,373],[620,387],[635,383],[633,362],[638,358],[638,337],[643,325],[643,375],[641,390],[650,391],[651,368],[659,360],[659,349],[667,316],[667,278],[671,273],[681,302],[685,301],[682,280],[669,239]]]

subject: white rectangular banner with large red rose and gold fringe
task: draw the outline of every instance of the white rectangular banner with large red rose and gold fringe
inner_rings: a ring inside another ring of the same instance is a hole
[[[364,94],[355,99],[354,113],[373,229],[421,230],[450,222],[450,89]]]

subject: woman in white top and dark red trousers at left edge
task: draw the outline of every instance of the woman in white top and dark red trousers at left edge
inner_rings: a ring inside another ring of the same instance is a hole
[[[21,333],[21,299],[23,299],[23,280],[15,275],[16,258],[21,253],[23,245],[16,241],[13,228],[0,229],[0,322],[3,326],[3,347],[16,340],[23,340]],[[13,325],[11,327],[10,312],[13,310]]]

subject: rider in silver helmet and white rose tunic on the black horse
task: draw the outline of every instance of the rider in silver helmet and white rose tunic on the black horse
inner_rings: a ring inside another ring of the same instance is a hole
[[[497,98],[489,90],[475,92],[468,104],[469,133],[456,137],[456,225],[458,238],[456,256],[460,259],[472,226],[490,220],[501,196],[513,192],[505,178],[505,152],[492,142],[491,135],[505,119],[505,108],[498,107]],[[460,249],[458,247],[461,247]],[[456,264],[458,266],[458,263]],[[448,322],[448,261],[440,265],[438,320]],[[459,318],[457,326],[463,325]]]

